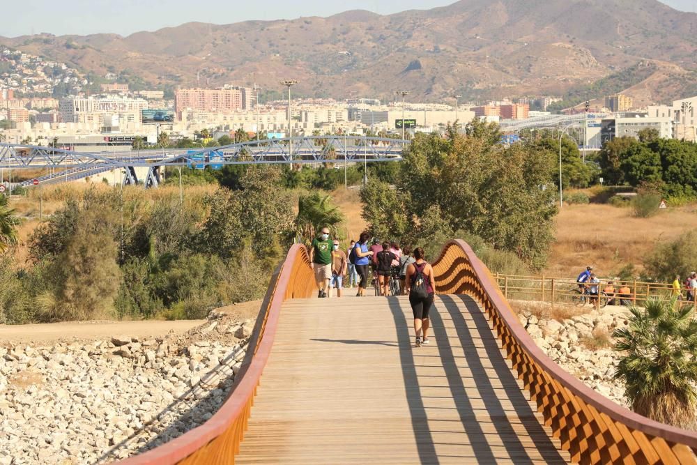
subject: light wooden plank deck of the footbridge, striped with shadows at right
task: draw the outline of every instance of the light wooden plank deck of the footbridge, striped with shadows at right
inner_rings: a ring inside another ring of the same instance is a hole
[[[288,300],[238,464],[567,463],[471,298]]]

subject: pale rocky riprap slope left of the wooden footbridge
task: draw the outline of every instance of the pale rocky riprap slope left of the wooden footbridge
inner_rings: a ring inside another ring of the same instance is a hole
[[[0,465],[95,464],[154,448],[217,411],[253,323],[185,335],[0,347]]]

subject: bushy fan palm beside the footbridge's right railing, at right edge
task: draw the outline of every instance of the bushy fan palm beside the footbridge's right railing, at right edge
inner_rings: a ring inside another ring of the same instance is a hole
[[[676,427],[695,425],[697,319],[691,305],[648,300],[630,307],[627,328],[615,330],[615,350],[626,351],[615,372],[640,415]]]

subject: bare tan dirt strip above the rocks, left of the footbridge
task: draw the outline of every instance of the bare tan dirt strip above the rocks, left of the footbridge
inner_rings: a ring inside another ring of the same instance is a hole
[[[218,311],[226,312],[234,319],[254,320],[261,300],[227,305]],[[144,339],[161,337],[169,333],[184,335],[187,331],[206,323],[206,320],[178,321],[70,321],[29,325],[0,325],[0,345],[47,345],[55,342],[87,342],[108,340],[114,335],[129,335]]]

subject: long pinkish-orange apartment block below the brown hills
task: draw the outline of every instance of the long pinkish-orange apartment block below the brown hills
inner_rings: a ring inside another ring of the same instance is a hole
[[[252,89],[177,89],[174,93],[174,111],[181,118],[187,109],[200,112],[231,112],[252,108]]]

